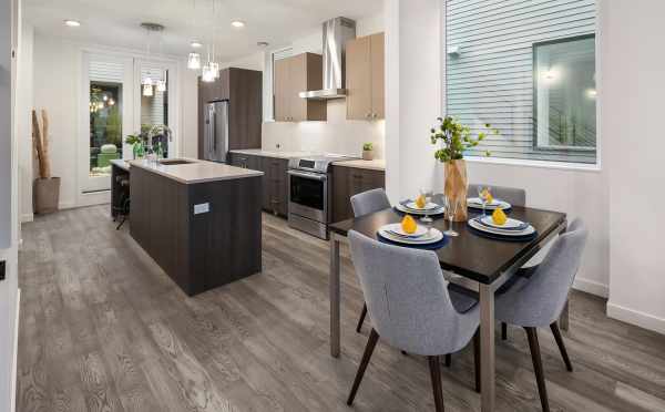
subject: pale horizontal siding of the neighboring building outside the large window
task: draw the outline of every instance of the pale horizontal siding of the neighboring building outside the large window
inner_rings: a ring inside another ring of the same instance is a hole
[[[595,151],[535,148],[533,43],[595,32],[595,0],[448,0],[448,114],[490,136],[469,155],[595,163]]]

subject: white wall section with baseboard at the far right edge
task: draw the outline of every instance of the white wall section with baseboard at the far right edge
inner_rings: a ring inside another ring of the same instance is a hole
[[[610,316],[665,333],[662,0],[611,0],[602,50]]]

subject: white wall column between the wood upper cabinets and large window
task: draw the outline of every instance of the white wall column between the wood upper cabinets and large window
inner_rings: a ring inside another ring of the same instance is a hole
[[[386,0],[386,183],[392,202],[443,187],[429,130],[441,115],[441,1]]]

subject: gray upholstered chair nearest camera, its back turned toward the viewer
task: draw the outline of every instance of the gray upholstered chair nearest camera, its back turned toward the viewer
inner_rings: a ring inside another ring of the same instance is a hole
[[[474,338],[479,391],[479,307],[458,312],[456,293],[447,288],[437,255],[382,244],[355,230],[348,238],[374,328],[347,404],[356,398],[379,337],[391,347],[428,358],[437,411],[443,411],[439,356],[457,352]]]

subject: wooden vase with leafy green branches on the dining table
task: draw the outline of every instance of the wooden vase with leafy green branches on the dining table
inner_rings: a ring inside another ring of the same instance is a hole
[[[471,127],[461,124],[451,116],[438,117],[437,120],[439,125],[431,128],[430,140],[434,145],[441,144],[441,147],[434,153],[434,157],[444,165],[446,186],[443,192],[447,197],[458,203],[453,220],[466,222],[468,218],[467,188],[469,182],[464,152],[478,146],[488,134],[499,135],[499,131],[485,123],[485,132],[480,132],[477,136],[473,136]],[[485,156],[489,155],[490,152],[485,151]]]

